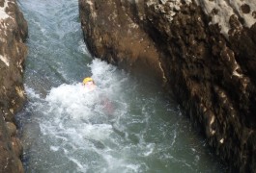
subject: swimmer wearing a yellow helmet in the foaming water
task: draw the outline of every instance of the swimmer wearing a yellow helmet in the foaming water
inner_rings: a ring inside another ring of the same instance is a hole
[[[97,87],[93,78],[90,78],[90,77],[84,78],[83,86],[85,87],[86,91],[93,91]],[[114,111],[113,106],[112,106],[111,102],[108,100],[108,98],[106,98],[105,96],[101,96],[100,97],[100,104],[103,106],[104,111],[107,114],[112,114],[113,113],[113,111]]]

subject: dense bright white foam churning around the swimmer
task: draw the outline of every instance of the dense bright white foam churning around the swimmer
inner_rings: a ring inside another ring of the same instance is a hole
[[[126,112],[127,107],[115,107],[116,110],[108,114],[100,101],[107,97],[113,103],[111,99],[115,98],[115,91],[120,90],[122,82],[127,79],[116,73],[116,67],[100,60],[94,60],[89,67],[98,85],[96,90],[88,92],[81,83],[63,84],[51,88],[44,99],[40,128],[43,136],[51,139],[47,141],[49,150],[53,153],[63,152],[81,172],[88,171],[90,162],[94,161],[77,159],[77,154],[73,152],[75,150],[81,150],[84,156],[88,153],[98,156],[101,161],[99,164],[105,164],[100,166],[100,171],[106,166],[107,170],[117,170],[120,166],[135,170],[138,165],[127,164],[112,156],[112,152],[115,152],[113,147],[119,147],[119,141],[113,137],[111,122]],[[32,89],[27,88],[27,91],[33,97],[40,97]],[[117,160],[121,161],[120,165],[114,166]]]

